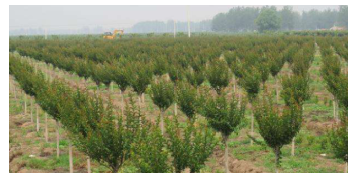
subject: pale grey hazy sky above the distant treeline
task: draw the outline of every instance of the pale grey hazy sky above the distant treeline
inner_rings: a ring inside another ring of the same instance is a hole
[[[237,6],[264,5],[190,5],[191,19],[211,19]],[[285,5],[275,5],[281,8]],[[290,5],[297,11],[336,9],[338,5]],[[9,5],[9,29],[80,28],[83,26],[130,27],[140,21],[187,20],[187,5]]]

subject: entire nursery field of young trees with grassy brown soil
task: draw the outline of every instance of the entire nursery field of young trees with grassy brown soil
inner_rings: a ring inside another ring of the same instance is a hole
[[[348,34],[9,39],[10,173],[346,171]]]

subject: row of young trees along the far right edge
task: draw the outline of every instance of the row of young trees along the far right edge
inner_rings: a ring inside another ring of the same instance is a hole
[[[321,73],[327,90],[334,98],[334,115],[337,121],[330,132],[331,144],[336,157],[345,161],[345,173],[348,173],[348,39],[320,38],[318,44],[323,58]]]

